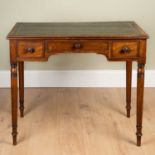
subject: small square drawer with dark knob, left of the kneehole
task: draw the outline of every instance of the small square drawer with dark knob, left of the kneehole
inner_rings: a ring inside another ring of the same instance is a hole
[[[19,58],[41,58],[44,57],[43,41],[19,41],[17,44]]]

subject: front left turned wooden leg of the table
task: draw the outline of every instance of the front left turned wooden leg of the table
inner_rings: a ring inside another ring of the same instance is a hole
[[[12,104],[12,136],[13,145],[17,143],[17,63],[11,64],[11,104]]]

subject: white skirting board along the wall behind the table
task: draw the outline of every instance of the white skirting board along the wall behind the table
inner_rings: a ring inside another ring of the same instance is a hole
[[[133,71],[132,86],[136,86]],[[25,87],[125,87],[125,70],[25,71]],[[0,71],[0,88],[10,87],[10,72]],[[155,87],[155,70],[146,70],[145,87]]]

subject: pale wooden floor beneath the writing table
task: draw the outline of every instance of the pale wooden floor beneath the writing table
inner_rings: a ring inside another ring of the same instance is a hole
[[[145,89],[142,147],[136,146],[135,89],[130,119],[123,88],[26,89],[25,107],[12,146],[10,90],[0,89],[0,155],[155,154],[155,89]]]

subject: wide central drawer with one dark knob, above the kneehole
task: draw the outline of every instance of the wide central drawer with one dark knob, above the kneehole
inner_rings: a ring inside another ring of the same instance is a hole
[[[104,40],[54,40],[47,41],[47,52],[96,52],[103,53],[109,49],[109,42]]]

